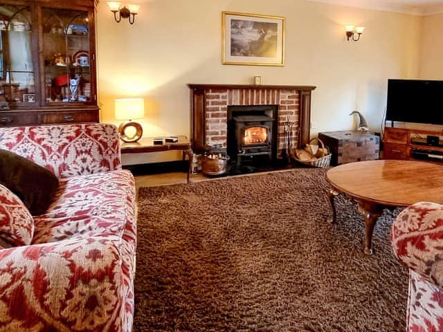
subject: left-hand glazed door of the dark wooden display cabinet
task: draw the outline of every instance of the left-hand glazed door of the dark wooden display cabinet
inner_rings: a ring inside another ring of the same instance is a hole
[[[34,106],[39,98],[30,6],[0,4],[0,108]]]

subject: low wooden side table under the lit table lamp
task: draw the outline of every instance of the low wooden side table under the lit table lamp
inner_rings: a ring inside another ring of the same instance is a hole
[[[155,138],[165,138],[161,136],[156,136]],[[183,160],[188,156],[189,167],[188,167],[188,183],[192,168],[192,147],[191,142],[186,136],[178,136],[179,140],[175,143],[165,142],[162,145],[154,145],[154,137],[142,137],[137,142],[123,142],[120,140],[120,149],[122,154],[141,154],[146,152],[160,152],[160,151],[172,151],[181,150],[183,151]]]

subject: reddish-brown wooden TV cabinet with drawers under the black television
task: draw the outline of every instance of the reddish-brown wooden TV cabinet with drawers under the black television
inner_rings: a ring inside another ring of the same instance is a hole
[[[439,136],[439,145],[427,145],[426,136]],[[383,159],[415,159],[413,150],[428,150],[443,154],[443,131],[386,127],[383,135]]]

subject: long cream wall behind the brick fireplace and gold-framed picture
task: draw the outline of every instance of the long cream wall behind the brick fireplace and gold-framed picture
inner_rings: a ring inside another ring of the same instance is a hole
[[[187,83],[315,85],[311,120],[318,131],[352,129],[360,111],[380,131],[388,77],[419,75],[422,17],[305,0],[151,0],[136,22],[117,24],[98,7],[100,120],[114,122],[114,99],[143,97],[145,136],[189,135]],[[221,64],[221,11],[286,17],[285,65]],[[344,25],[365,26],[359,42]],[[431,22],[429,22],[431,24]],[[422,55],[424,56],[424,55]]]

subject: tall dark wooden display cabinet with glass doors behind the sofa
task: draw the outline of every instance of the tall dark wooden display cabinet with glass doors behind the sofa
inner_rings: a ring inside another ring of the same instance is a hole
[[[0,0],[0,127],[98,122],[96,0]]]

